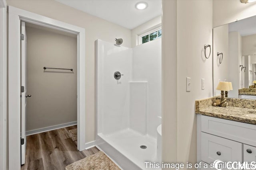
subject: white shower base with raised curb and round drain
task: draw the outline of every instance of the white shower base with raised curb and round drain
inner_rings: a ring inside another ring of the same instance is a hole
[[[156,162],[156,139],[142,135],[132,129],[124,129],[112,134],[98,134],[96,146],[104,151],[124,170],[146,169],[144,162]],[[146,149],[140,148],[145,145]],[[111,147],[110,147],[111,146]],[[149,167],[148,167],[149,168]],[[153,169],[153,168],[150,168]]]

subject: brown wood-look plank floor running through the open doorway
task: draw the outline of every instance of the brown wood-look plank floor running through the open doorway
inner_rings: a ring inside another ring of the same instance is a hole
[[[68,164],[97,153],[96,147],[77,150],[77,143],[68,132],[76,128],[75,125],[27,136],[26,162],[21,170],[64,170]]]

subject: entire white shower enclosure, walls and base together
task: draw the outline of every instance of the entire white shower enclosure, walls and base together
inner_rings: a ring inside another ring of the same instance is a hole
[[[124,170],[161,160],[161,58],[161,38],[132,49],[96,40],[96,146]]]

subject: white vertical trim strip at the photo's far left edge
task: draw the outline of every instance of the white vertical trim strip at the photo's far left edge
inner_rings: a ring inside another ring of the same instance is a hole
[[[7,169],[7,5],[0,0],[0,170]]]

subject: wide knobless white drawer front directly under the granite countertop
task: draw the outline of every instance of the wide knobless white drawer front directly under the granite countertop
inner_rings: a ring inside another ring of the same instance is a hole
[[[256,125],[202,115],[201,131],[256,146]]]

